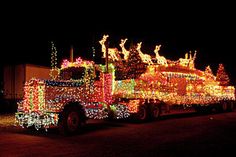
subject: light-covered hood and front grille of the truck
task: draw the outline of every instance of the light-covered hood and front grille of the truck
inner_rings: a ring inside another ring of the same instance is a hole
[[[27,81],[24,86],[23,102],[18,105],[18,110],[24,112],[44,112],[51,110],[50,102],[57,102],[59,96],[68,99],[68,88],[76,87],[80,90],[84,83],[81,81],[60,81],[60,80],[43,80],[35,79]],[[67,97],[65,97],[67,93]],[[64,96],[64,97],[63,97]],[[72,97],[71,95],[70,97]]]

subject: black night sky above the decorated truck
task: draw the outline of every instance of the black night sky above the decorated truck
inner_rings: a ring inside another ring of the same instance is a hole
[[[54,41],[58,62],[74,56],[92,57],[92,47],[100,51],[98,41],[109,34],[110,47],[119,48],[121,38],[131,43],[142,41],[142,51],[154,55],[156,44],[162,44],[160,55],[167,59],[184,58],[197,50],[196,68],[210,65],[216,74],[219,63],[225,65],[231,82],[236,84],[235,9],[232,4],[150,4],[112,3],[102,6],[54,6],[34,4],[30,7],[8,6],[2,14],[1,66],[32,63],[50,66]],[[99,53],[98,53],[99,54]]]

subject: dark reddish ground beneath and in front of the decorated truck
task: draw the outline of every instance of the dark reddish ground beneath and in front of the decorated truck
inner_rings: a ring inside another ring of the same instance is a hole
[[[158,121],[90,120],[78,134],[32,131],[1,115],[0,156],[235,156],[236,112],[179,114]]]

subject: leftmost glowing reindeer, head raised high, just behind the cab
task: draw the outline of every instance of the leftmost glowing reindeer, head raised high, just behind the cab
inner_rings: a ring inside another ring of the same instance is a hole
[[[106,45],[105,42],[109,35],[103,35],[102,40],[99,41],[99,43],[102,45],[102,52],[103,52],[103,58],[106,57]],[[116,53],[118,52],[117,48],[108,48],[108,55],[111,57],[111,59],[114,60],[119,60],[119,58],[116,56]]]

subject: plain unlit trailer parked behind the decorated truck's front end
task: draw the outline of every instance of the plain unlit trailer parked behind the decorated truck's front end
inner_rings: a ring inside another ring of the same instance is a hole
[[[3,92],[1,105],[6,111],[14,112],[16,102],[23,99],[25,82],[32,77],[50,79],[51,68],[33,64],[5,65],[3,67]],[[0,107],[1,108],[1,107]]]

